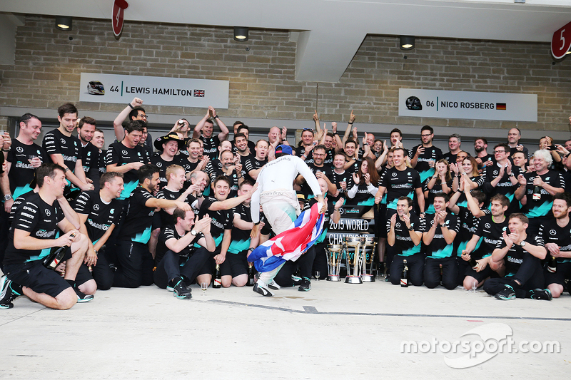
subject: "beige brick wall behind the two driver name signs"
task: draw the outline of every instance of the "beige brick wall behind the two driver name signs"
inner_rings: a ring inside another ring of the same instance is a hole
[[[250,41],[238,43],[229,28],[128,21],[116,40],[108,21],[74,19],[74,29],[63,32],[54,28],[52,18],[29,16],[17,30],[15,65],[0,66],[0,106],[54,109],[65,101],[76,103],[80,73],[101,72],[228,80],[225,120],[311,120],[317,107],[323,120],[346,121],[353,109],[360,123],[569,128],[571,61],[552,66],[546,43],[416,38],[408,52],[397,45],[395,36],[368,36],[340,83],[316,88],[316,83],[295,81],[295,43],[287,32],[250,31]],[[398,116],[398,88],[537,93],[538,122],[403,118]],[[78,103],[78,108],[114,113],[123,106]],[[146,110],[204,113],[166,106]]]

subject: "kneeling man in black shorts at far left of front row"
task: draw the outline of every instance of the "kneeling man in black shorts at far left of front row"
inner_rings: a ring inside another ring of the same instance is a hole
[[[86,302],[93,295],[86,295],[76,285],[76,274],[87,251],[87,238],[64,217],[57,202],[64,195],[66,172],[56,164],[44,164],[36,170],[39,191],[16,202],[12,209],[14,221],[4,257],[4,272],[0,283],[0,308],[14,307],[11,302],[19,295],[26,295],[51,309],[69,309],[76,302]],[[64,235],[56,238],[59,232]],[[66,274],[44,267],[42,259],[51,248],[64,247]],[[93,280],[91,280],[93,281]]]

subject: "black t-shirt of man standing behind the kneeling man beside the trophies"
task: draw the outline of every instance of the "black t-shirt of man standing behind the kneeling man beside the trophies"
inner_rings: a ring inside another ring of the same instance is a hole
[[[396,210],[401,196],[410,197],[416,204],[416,189],[422,188],[418,171],[406,168],[385,170],[379,180],[379,186],[387,188],[387,209]]]

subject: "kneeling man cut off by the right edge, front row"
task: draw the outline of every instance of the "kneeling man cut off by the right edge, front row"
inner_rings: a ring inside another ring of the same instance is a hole
[[[563,292],[565,279],[571,278],[571,228],[569,211],[571,210],[571,194],[561,192],[553,196],[553,219],[543,222],[543,239],[547,249],[547,257],[555,257],[557,265],[553,267],[551,260],[545,266],[545,284],[553,297],[558,298]]]

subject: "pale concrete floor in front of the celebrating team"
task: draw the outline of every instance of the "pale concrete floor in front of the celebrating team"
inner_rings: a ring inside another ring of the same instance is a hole
[[[312,287],[276,297],[196,287],[190,300],[154,285],[111,289],[65,312],[20,297],[0,310],[0,379],[562,379],[571,370],[569,294],[502,302],[384,281]],[[482,338],[462,337],[474,328]],[[497,342],[502,329],[516,346],[558,341],[560,353],[503,352],[478,364],[475,342]],[[474,357],[459,359],[470,367],[445,363],[467,354],[401,353],[403,341],[433,339],[474,344]]]

